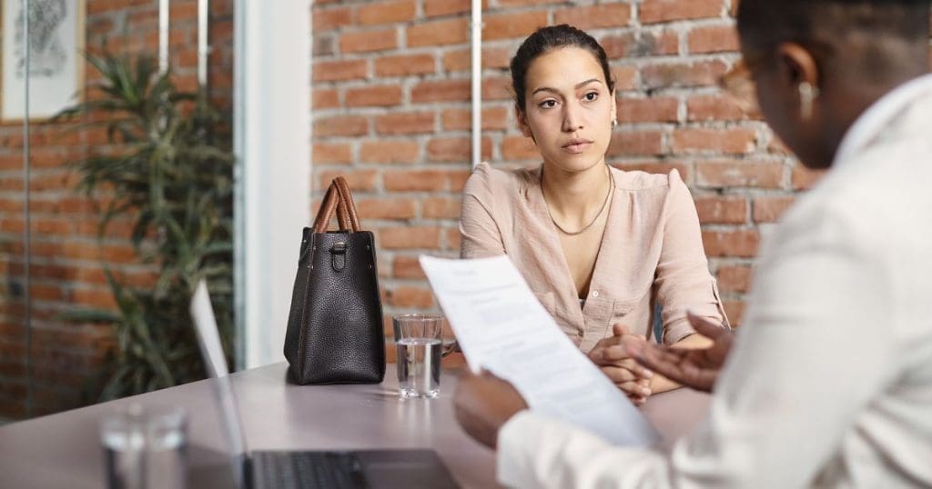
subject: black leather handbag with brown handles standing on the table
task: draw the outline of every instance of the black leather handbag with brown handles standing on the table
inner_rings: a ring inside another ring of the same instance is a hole
[[[327,231],[336,211],[338,231]],[[343,177],[304,228],[285,358],[297,384],[377,384],[385,376],[376,243],[361,231]]]

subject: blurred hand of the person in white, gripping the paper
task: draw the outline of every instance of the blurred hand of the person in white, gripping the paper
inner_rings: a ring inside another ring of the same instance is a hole
[[[459,426],[491,448],[498,444],[501,426],[514,414],[528,409],[517,389],[487,372],[460,377],[453,403]]]

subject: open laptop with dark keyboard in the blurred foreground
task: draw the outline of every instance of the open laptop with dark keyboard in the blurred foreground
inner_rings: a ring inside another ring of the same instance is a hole
[[[208,374],[217,379],[214,394],[231,447],[234,483],[246,489],[291,488],[456,488],[436,452],[412,450],[250,451],[207,285],[201,280],[191,299],[198,344]]]

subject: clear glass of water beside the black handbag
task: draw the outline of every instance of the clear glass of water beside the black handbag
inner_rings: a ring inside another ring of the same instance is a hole
[[[403,398],[434,398],[440,392],[444,317],[405,314],[391,319],[395,331],[398,387]]]

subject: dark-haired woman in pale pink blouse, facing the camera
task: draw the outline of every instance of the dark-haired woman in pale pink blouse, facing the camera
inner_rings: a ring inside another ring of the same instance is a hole
[[[461,257],[508,254],[557,324],[633,401],[676,387],[605,353],[625,333],[650,338],[655,304],[666,345],[707,346],[687,309],[728,325],[689,190],[676,170],[606,164],[615,92],[592,36],[569,25],[541,28],[511,69],[518,124],[543,162],[476,168],[463,190]],[[612,328],[623,323],[628,329]]]

